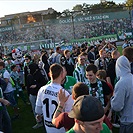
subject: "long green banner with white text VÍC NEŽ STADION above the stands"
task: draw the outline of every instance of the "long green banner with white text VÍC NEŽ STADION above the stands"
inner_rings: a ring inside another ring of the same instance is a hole
[[[104,21],[104,20],[112,20],[112,19],[121,19],[121,18],[130,18],[129,11],[121,11],[121,12],[111,12],[111,13],[100,13],[94,15],[78,15],[72,18],[64,17],[60,19],[53,20],[44,20],[44,24],[70,24],[70,23],[86,23],[86,22],[94,22],[94,21]]]

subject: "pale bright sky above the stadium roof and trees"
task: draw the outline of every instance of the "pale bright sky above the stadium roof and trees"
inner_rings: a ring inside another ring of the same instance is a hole
[[[115,3],[125,2],[125,0],[113,1]],[[28,11],[47,10],[50,7],[62,12],[65,9],[72,10],[75,5],[83,3],[97,4],[100,3],[100,0],[0,0],[0,17]]]

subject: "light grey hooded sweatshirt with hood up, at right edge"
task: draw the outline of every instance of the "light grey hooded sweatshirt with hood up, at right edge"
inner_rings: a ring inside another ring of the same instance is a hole
[[[111,107],[114,111],[120,112],[120,122],[128,125],[133,123],[133,75],[125,56],[119,57],[116,61],[116,76],[119,80],[115,85]]]

